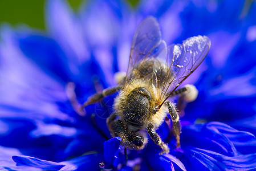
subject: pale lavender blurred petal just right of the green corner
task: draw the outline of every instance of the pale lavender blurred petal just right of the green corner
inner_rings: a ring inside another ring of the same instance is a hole
[[[84,62],[90,58],[82,30],[82,23],[75,16],[67,1],[47,1],[46,21],[51,35],[59,42],[70,58],[74,70],[75,61]],[[74,57],[77,59],[75,60]]]

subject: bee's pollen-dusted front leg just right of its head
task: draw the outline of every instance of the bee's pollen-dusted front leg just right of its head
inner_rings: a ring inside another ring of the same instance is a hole
[[[155,130],[153,129],[153,126],[150,125],[148,127],[148,134],[151,137],[151,139],[154,141],[155,144],[159,145],[160,148],[162,149],[160,155],[162,155],[162,153],[169,153],[169,147],[167,144],[165,144],[162,140],[161,137],[155,132]]]

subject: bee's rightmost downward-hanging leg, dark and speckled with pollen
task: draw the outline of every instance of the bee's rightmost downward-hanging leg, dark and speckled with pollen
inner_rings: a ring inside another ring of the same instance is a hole
[[[180,117],[178,116],[178,112],[173,107],[172,103],[170,103],[170,101],[166,101],[165,104],[168,107],[170,118],[172,119],[172,131],[173,131],[173,134],[177,141],[176,147],[179,147],[180,146],[180,133],[181,133]]]

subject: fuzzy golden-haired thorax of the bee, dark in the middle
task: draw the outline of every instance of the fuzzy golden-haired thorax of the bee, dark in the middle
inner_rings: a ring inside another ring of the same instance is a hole
[[[156,111],[159,93],[152,83],[143,79],[132,79],[116,97],[114,110],[136,127],[147,128],[149,124],[159,127],[168,111],[165,106]]]

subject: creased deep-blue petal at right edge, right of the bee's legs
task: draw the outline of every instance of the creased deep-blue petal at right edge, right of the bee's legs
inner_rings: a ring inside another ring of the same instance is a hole
[[[181,144],[212,150],[225,156],[254,153],[256,148],[254,135],[217,122],[183,127]]]

